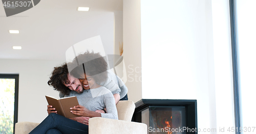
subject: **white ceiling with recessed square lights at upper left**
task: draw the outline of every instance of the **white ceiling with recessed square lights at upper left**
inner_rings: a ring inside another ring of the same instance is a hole
[[[0,59],[65,60],[70,46],[97,35],[101,36],[106,53],[111,53],[113,12],[122,11],[122,5],[122,0],[44,0],[9,17],[1,5]],[[90,11],[80,12],[78,7],[90,7]],[[9,30],[20,33],[10,34]],[[22,46],[22,50],[12,46]]]

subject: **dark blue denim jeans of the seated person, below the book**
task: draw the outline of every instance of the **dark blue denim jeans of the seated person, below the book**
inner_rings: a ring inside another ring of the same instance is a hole
[[[61,115],[51,113],[46,117],[44,121],[42,121],[37,127],[35,127],[30,134],[52,134],[52,133],[60,133],[60,134],[84,134],[88,133],[88,125],[84,125],[77,121],[68,119]]]

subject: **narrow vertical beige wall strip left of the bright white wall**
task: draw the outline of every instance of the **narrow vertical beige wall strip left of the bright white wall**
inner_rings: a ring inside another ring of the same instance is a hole
[[[123,58],[128,98],[137,102],[142,98],[140,0],[123,0]]]

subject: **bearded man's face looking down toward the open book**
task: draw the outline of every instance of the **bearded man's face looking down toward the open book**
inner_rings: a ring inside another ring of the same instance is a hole
[[[69,84],[63,83],[67,88],[69,88],[72,91],[76,91],[77,93],[82,93],[82,85],[78,78],[73,77],[72,75],[68,74]]]

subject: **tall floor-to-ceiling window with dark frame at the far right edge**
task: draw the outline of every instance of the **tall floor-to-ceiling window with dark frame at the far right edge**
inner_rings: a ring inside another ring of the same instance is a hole
[[[230,22],[232,42],[234,115],[236,133],[250,133],[255,129],[256,54],[255,12],[256,1],[230,0]],[[255,132],[255,130],[254,130]]]

